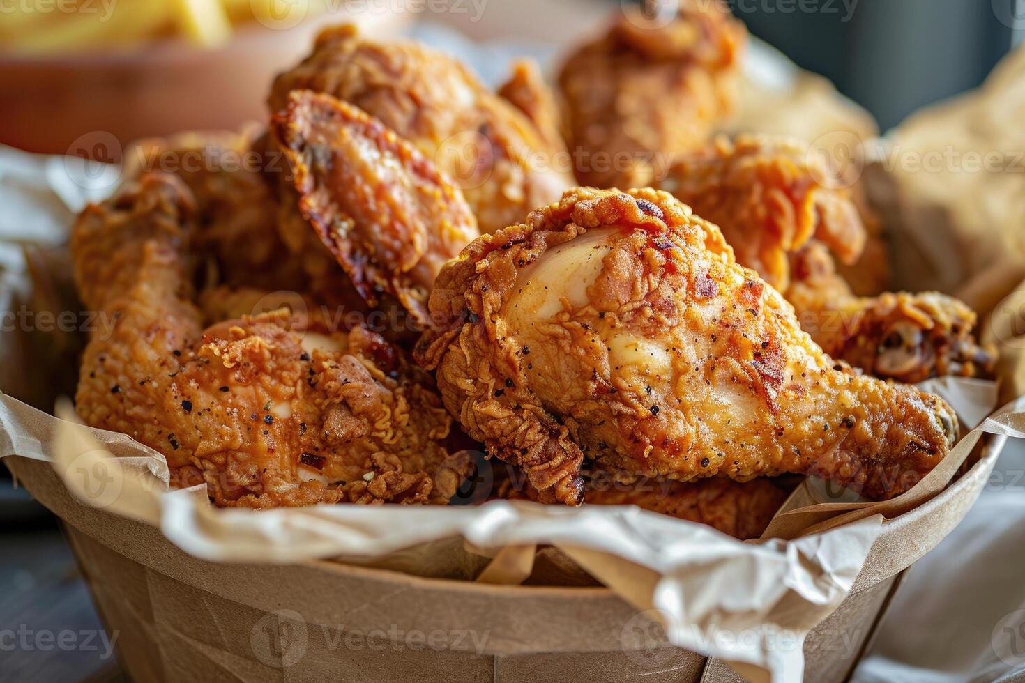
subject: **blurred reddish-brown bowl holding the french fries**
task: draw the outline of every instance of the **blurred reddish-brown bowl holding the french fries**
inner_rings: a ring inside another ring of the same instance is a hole
[[[351,22],[394,34],[412,17],[339,9],[289,29],[240,27],[217,48],[166,38],[132,51],[0,53],[0,143],[118,162],[139,137],[263,121],[271,80],[310,52],[321,28]]]

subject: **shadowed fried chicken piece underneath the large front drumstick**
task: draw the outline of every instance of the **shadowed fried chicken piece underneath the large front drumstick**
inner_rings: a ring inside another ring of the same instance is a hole
[[[640,479],[614,483],[591,473],[585,483],[584,505],[636,505],[678,519],[707,524],[735,539],[756,539],[786,502],[796,477],[758,477],[738,482],[715,477],[693,482]],[[512,479],[501,482],[495,498],[538,501],[530,486],[518,488]]]

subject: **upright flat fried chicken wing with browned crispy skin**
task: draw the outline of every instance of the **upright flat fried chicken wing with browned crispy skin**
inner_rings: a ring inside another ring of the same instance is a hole
[[[480,234],[459,189],[380,121],[330,95],[292,91],[272,132],[298,211],[357,291],[370,305],[388,294],[426,324],[442,264]]]

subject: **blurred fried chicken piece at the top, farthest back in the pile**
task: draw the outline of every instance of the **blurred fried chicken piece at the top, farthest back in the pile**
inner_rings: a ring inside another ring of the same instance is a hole
[[[721,3],[683,0],[667,23],[624,6],[559,77],[580,184],[649,185],[707,141],[733,110],[745,38]]]

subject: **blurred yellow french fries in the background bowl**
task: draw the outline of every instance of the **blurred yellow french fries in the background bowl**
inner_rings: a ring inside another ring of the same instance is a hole
[[[325,0],[0,0],[0,53],[131,47],[168,36],[215,47],[235,27],[294,24]],[[274,23],[274,24],[272,24]]]

